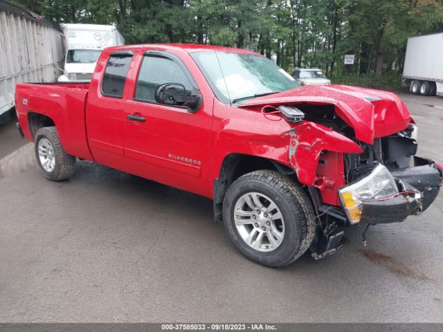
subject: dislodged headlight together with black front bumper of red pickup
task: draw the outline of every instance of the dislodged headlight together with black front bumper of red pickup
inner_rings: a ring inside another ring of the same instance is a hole
[[[413,163],[391,171],[379,163],[368,176],[341,188],[350,223],[397,223],[426,210],[437,197],[442,173],[430,160],[414,157]]]

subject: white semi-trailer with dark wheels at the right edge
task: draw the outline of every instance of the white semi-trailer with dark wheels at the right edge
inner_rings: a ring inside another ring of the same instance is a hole
[[[443,96],[443,33],[408,39],[403,78],[415,95]]]

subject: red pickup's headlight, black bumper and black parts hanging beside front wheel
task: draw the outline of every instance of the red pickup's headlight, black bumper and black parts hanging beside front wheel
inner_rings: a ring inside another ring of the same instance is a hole
[[[442,186],[443,165],[419,157],[413,162],[413,167],[400,169],[378,165],[370,175],[341,188],[342,209],[318,206],[318,212],[326,214],[326,224],[316,231],[312,257],[322,259],[341,250],[347,223],[363,223],[367,230],[369,225],[398,223],[426,210]]]

